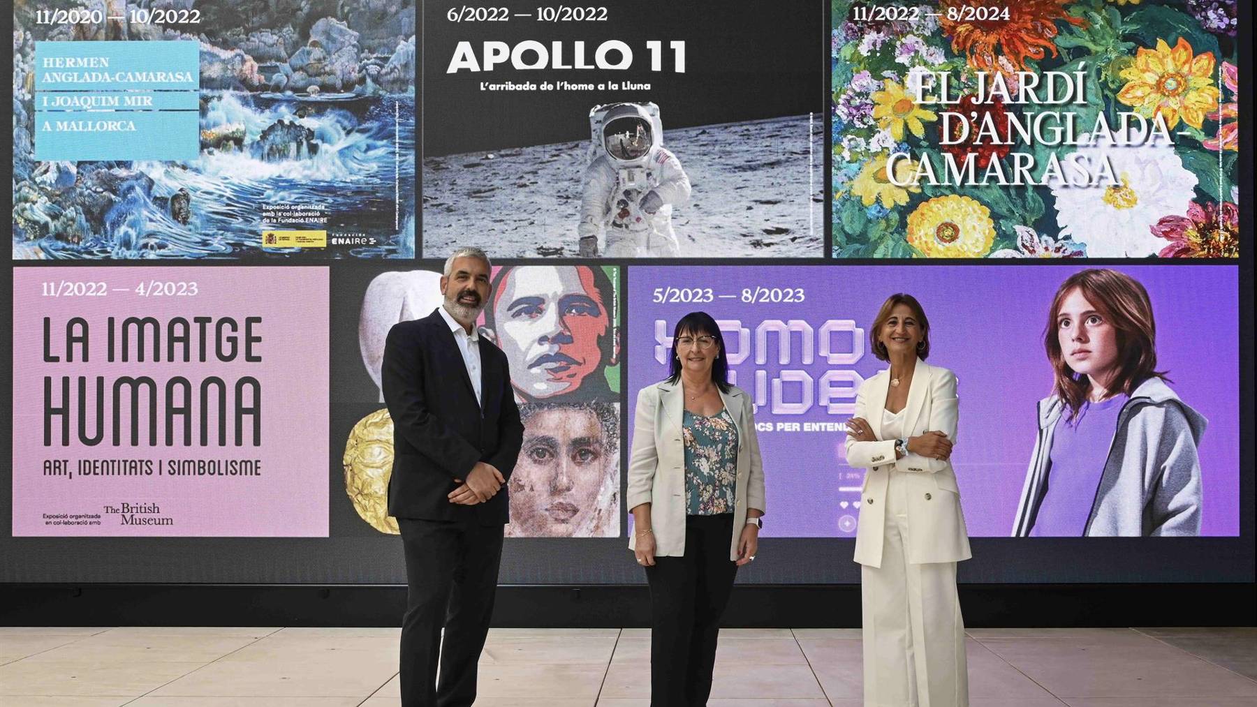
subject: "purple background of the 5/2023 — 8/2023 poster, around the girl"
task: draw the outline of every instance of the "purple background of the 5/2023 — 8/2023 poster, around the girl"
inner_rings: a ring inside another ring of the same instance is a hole
[[[916,296],[930,323],[929,363],[958,378],[952,463],[969,534],[1013,532],[1052,392],[1043,334],[1053,295],[1077,265],[651,266],[631,274],[628,397],[666,375],[672,328],[703,310],[720,324],[733,383],[755,402],[764,458],[764,534],[854,537],[864,471],[843,458],[856,388],[884,369],[869,329],[885,299]],[[1197,453],[1200,535],[1239,530],[1238,281],[1232,266],[1123,266],[1156,325],[1156,370],[1208,421]],[[632,407],[630,407],[632,409]],[[630,416],[632,419],[632,416]],[[1079,499],[1090,506],[1095,499]]]

